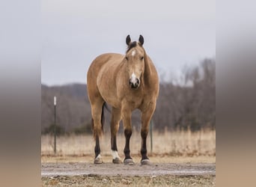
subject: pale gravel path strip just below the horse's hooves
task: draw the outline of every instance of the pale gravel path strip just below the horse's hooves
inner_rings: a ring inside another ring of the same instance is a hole
[[[210,163],[152,163],[151,165],[114,165],[103,163],[42,163],[42,177],[56,176],[158,176],[158,175],[216,175],[216,165]]]

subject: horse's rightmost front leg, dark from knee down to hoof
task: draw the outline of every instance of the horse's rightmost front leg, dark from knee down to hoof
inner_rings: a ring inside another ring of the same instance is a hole
[[[150,119],[153,116],[156,105],[150,103],[146,111],[141,115],[141,165],[149,165],[150,161],[147,157],[147,134],[149,130]]]

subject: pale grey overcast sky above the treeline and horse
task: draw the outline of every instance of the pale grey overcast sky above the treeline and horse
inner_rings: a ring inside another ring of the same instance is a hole
[[[159,76],[178,79],[184,64],[216,55],[216,1],[43,0],[41,82],[86,83],[91,61],[124,54],[125,39],[144,37]]]

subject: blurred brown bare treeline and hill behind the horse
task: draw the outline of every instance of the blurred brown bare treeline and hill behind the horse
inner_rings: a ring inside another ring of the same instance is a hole
[[[161,82],[153,129],[215,129],[216,61],[204,59],[197,67],[186,67],[177,82]],[[52,132],[53,96],[57,96],[58,134],[91,133],[91,107],[86,85],[41,86],[41,132]],[[111,108],[109,106],[109,108]],[[109,131],[110,113],[105,111],[104,131]],[[132,113],[132,126],[140,129],[140,112]],[[121,124],[120,132],[123,126]]]

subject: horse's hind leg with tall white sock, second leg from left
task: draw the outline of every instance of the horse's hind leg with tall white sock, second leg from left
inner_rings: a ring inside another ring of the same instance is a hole
[[[114,164],[122,163],[120,156],[118,155],[117,146],[117,133],[119,129],[119,123],[121,120],[121,111],[118,108],[112,107],[112,119],[111,119],[111,150],[112,150],[112,162]]]

